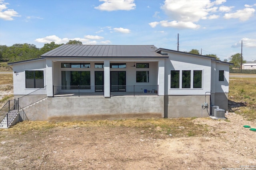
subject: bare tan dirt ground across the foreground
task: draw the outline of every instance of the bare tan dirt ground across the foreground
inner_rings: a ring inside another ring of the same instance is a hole
[[[180,138],[122,126],[0,131],[0,169],[256,169],[256,132],[243,127],[256,128],[256,122],[235,113],[226,117],[196,118],[195,124],[208,125],[208,133]]]

